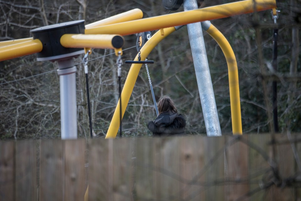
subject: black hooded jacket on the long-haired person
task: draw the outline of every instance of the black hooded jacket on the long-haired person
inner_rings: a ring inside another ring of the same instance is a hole
[[[153,135],[168,136],[184,134],[186,122],[182,115],[174,112],[163,112],[154,121],[150,121],[147,128]]]

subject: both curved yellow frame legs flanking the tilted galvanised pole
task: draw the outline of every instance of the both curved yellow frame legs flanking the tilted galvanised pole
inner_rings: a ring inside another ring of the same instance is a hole
[[[167,35],[170,35],[175,28],[164,29],[164,35],[161,35],[161,30],[159,30],[154,36],[150,38],[149,41],[145,43],[145,45],[141,48],[141,59],[145,60],[145,58],[149,55],[150,51]],[[241,126],[241,113],[240,113],[240,96],[239,96],[239,83],[238,83],[238,68],[237,62],[235,59],[234,52],[227,41],[227,39],[220,33],[218,29],[214,27],[214,25],[210,25],[207,33],[213,37],[213,39],[219,44],[221,47],[227,61],[228,65],[228,73],[229,73],[229,88],[230,88],[230,104],[231,104],[231,118],[232,118],[232,132],[233,134],[242,134],[242,126]],[[156,36],[156,38],[154,38]],[[154,41],[153,41],[154,40]],[[151,44],[149,44],[151,43]],[[146,47],[147,46],[147,47]],[[147,51],[147,52],[145,52]],[[135,61],[138,60],[138,56],[136,56]],[[128,77],[124,84],[124,89],[121,93],[122,100],[122,117],[124,115],[125,109],[129,102],[129,97],[134,89],[134,85],[136,79],[138,77],[138,73],[140,71],[142,64],[132,64]],[[135,82],[134,82],[135,81]],[[128,85],[129,84],[129,85]],[[126,98],[126,100],[125,100]],[[120,100],[119,100],[120,101]],[[108,132],[106,135],[107,138],[115,138],[118,132],[118,128],[120,126],[120,105],[119,102],[116,106],[111,124],[108,128]]]

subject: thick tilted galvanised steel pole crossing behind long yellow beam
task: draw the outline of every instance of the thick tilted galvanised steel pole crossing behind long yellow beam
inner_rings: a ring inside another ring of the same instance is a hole
[[[184,0],[183,7],[184,11],[193,10],[198,4],[196,0]],[[221,136],[201,23],[187,24],[187,30],[207,135]]]

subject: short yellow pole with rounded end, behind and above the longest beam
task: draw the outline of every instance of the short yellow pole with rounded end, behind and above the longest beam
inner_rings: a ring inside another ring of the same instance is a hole
[[[131,20],[135,20],[135,19],[141,19],[142,17],[143,17],[143,12],[140,9],[135,8],[133,10],[129,10],[127,12],[120,13],[120,14],[114,15],[112,17],[108,17],[106,19],[99,20],[97,22],[93,22],[91,24],[87,24],[85,26],[85,28],[91,29],[91,28],[95,28],[98,26],[104,26],[104,25],[108,25],[108,24],[116,24],[116,23],[120,23],[120,22],[127,22],[127,21],[131,21]]]

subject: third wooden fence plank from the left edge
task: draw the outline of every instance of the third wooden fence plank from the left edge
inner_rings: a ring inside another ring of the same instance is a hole
[[[40,200],[63,200],[63,141],[40,142]]]

